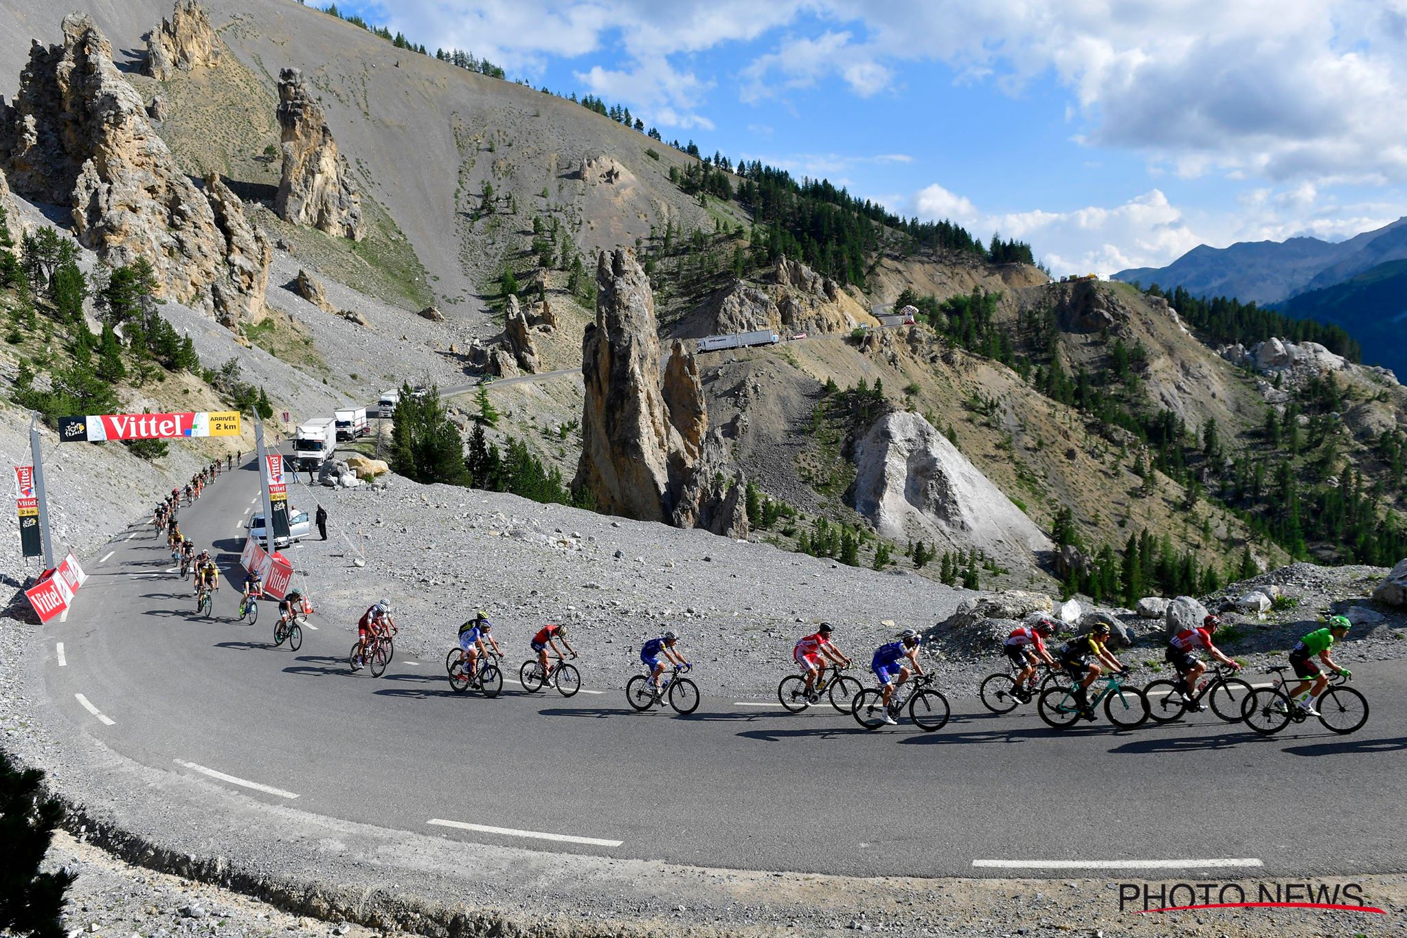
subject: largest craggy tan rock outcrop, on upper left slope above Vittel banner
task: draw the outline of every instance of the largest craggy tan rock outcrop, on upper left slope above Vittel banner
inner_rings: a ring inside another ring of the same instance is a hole
[[[162,294],[225,325],[259,321],[272,250],[218,180],[198,188],[152,129],[86,14],[30,49],[0,113],[0,167],[15,191],[72,210],[73,233],[113,266],[146,257]]]

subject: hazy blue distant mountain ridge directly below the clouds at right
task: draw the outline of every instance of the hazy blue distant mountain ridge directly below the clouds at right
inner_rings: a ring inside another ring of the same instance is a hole
[[[1290,238],[1237,242],[1230,248],[1199,245],[1166,267],[1120,270],[1113,278],[1144,287],[1158,284],[1164,290],[1183,287],[1197,297],[1234,297],[1269,305],[1404,259],[1407,217],[1339,243]]]

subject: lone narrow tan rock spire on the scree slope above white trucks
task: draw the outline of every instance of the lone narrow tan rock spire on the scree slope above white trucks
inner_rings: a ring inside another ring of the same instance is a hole
[[[362,191],[338,152],[322,105],[303,83],[303,72],[279,72],[279,127],[283,128],[283,174],[274,212],[294,225],[310,225],[336,238],[362,240]]]

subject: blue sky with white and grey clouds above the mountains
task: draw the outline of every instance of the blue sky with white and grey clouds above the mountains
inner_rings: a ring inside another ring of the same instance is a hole
[[[1407,214],[1407,0],[352,0],[1054,273]]]

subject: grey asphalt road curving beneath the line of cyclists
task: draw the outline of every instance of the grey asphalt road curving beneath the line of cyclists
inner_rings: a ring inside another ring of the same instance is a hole
[[[249,464],[182,512],[197,543],[222,550],[212,619],[193,617],[190,584],[166,572],[170,555],[149,525],[90,561],[68,620],[46,627],[45,685],[76,734],[151,766],[200,772],[193,764],[277,789],[215,779],[270,804],[701,866],[934,876],[1010,875],[974,862],[1036,861],[1020,875],[1069,876],[1076,870],[1061,863],[1104,862],[1176,876],[1216,872],[1183,861],[1228,859],[1276,876],[1407,869],[1399,664],[1355,665],[1373,713],[1349,737],[1303,724],[1261,740],[1210,713],[1130,733],[1100,719],[1055,734],[1029,707],[992,716],[975,699],[953,700],[954,719],[933,734],[908,723],[865,733],[834,712],[792,716],[775,700],[709,696],[706,674],[696,675],[704,702],[692,717],[629,710],[629,675],[584,675],[598,693],[571,699],[508,682],[485,700],[452,693],[442,658],[397,657],[381,679],[352,675],[352,623],[314,616],[317,630],[294,653],[272,647],[274,606],[256,626],[235,622],[228,579],[256,487]],[[1148,862],[1171,865],[1138,865]]]

